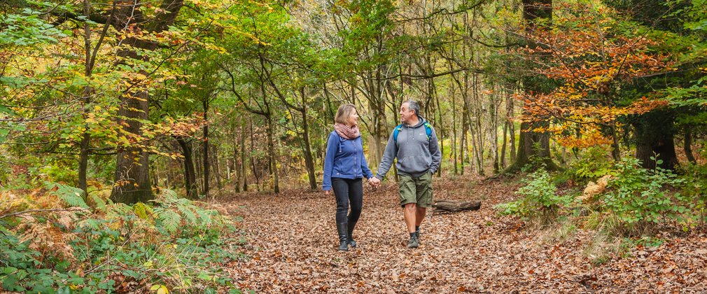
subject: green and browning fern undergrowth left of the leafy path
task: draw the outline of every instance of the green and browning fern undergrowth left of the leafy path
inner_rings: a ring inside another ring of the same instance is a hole
[[[240,293],[221,265],[246,258],[238,253],[245,239],[223,209],[170,190],[129,206],[46,185],[0,201],[1,289]]]

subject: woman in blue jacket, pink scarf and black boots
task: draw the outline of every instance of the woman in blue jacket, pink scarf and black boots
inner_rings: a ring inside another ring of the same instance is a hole
[[[337,199],[339,250],[349,251],[349,245],[356,247],[353,233],[363,206],[363,177],[366,176],[366,179],[370,180],[373,173],[368,169],[366,156],[363,155],[358,114],[354,105],[341,105],[334,122],[334,131],[329,134],[327,141],[322,189],[327,196],[334,190]],[[349,216],[346,216],[346,213],[349,213]]]

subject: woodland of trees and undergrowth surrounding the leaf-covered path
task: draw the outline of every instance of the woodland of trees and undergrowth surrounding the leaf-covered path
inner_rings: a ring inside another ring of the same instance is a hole
[[[320,189],[346,102],[374,172],[421,102],[529,230],[705,230],[704,0],[1,0],[0,46],[6,290],[239,288],[223,199]]]

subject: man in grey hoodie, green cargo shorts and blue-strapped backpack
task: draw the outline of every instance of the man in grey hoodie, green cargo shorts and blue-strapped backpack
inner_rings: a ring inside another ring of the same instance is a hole
[[[378,174],[370,180],[378,186],[390,170],[393,159],[398,169],[400,206],[407,230],[410,233],[408,248],[420,245],[420,225],[427,208],[432,206],[432,175],[442,161],[437,134],[423,117],[420,105],[412,100],[400,106],[400,121],[385,146],[385,153],[378,166]]]

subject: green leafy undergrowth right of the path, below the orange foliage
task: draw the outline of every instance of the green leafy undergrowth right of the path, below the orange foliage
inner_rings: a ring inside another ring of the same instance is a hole
[[[590,232],[583,251],[595,264],[706,229],[706,167],[683,165],[674,173],[644,169],[636,158],[607,163],[592,156],[554,174],[543,168],[528,174],[518,199],[496,210],[545,230],[542,242]]]

